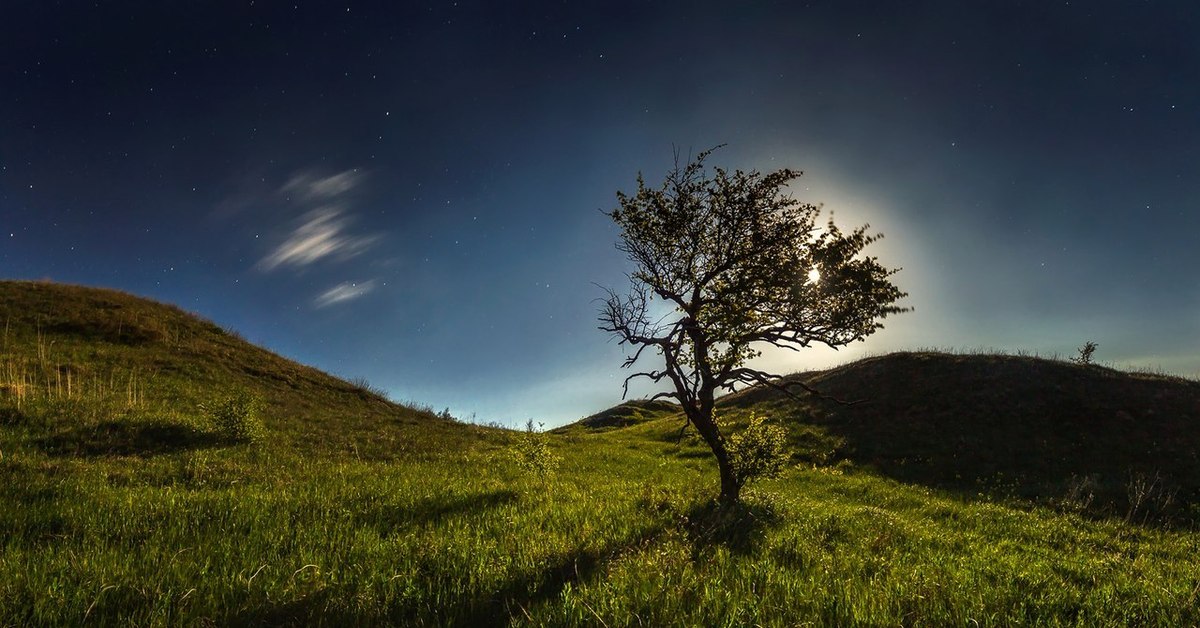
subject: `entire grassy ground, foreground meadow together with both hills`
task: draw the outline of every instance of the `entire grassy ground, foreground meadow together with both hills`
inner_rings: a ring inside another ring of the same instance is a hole
[[[1193,382],[802,375],[869,401],[725,399],[733,427],[782,419],[796,465],[722,510],[668,403],[508,432],[110,291],[0,282],[0,627],[1200,623]],[[253,438],[214,412],[240,397]],[[1138,473],[1184,506],[1087,503]]]

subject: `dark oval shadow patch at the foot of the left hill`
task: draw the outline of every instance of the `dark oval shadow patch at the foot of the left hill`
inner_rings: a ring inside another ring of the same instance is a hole
[[[164,420],[106,420],[60,430],[36,443],[52,456],[83,457],[151,457],[227,444],[214,433]]]

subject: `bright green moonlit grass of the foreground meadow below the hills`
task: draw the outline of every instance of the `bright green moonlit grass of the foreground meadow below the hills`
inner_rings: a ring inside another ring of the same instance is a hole
[[[1200,536],[791,471],[713,509],[706,461],[559,439],[312,461],[6,455],[0,624],[1112,624],[1200,621]]]

